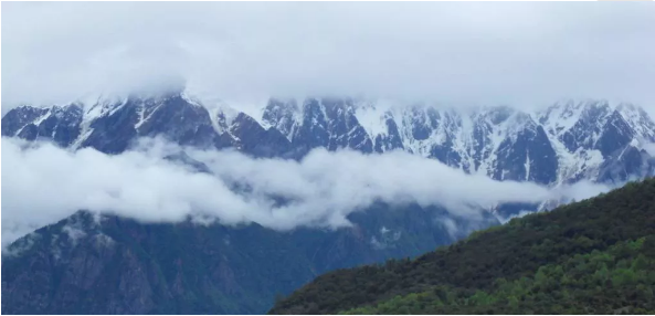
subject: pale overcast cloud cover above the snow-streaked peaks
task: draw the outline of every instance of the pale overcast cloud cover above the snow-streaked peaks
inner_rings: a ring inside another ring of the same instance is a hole
[[[231,98],[653,109],[654,17],[655,2],[6,2],[2,107],[183,78]]]

